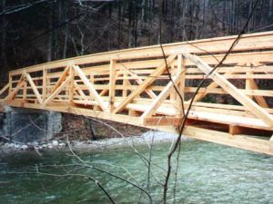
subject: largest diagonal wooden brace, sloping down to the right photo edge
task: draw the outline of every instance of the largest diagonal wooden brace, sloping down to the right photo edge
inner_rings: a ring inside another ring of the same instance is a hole
[[[204,73],[210,73],[212,68],[203,63],[197,56],[192,55],[190,53],[183,53],[183,55],[195,62],[197,67],[202,70]],[[227,81],[223,76],[218,73],[211,73],[209,76],[212,80],[214,80],[219,86],[221,86],[226,92],[228,92],[231,96],[233,96],[238,102],[241,102],[250,112],[253,112],[258,118],[268,124],[269,127],[273,127],[273,118],[268,114],[263,108],[261,108],[256,102],[253,102],[248,98],[248,96],[242,94],[238,91],[238,89]]]

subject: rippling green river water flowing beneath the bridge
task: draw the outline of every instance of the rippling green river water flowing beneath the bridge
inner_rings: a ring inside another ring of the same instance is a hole
[[[164,169],[167,167],[170,145],[167,142],[157,144],[152,152],[149,189],[153,203],[162,203],[163,192],[159,182],[165,180]],[[148,158],[147,145],[136,146],[136,149]],[[89,165],[110,171],[147,189],[147,167],[130,148],[77,153]],[[69,151],[42,151],[42,154],[41,157],[35,151],[30,151],[0,157],[1,204],[110,203],[104,192],[91,180],[77,176],[56,178],[26,173],[35,172],[36,166],[41,164],[64,165],[79,162]],[[54,174],[64,174],[69,170],[72,170],[71,167],[44,166],[40,169]],[[96,178],[116,203],[149,203],[146,195],[125,181],[90,168],[76,172]],[[171,178],[169,203],[173,203],[174,174]],[[210,142],[183,141],[176,201],[204,204],[273,203],[273,157]]]

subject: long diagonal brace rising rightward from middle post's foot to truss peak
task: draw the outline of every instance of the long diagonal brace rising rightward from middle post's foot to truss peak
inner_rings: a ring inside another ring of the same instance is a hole
[[[165,70],[167,69],[166,65],[169,65],[169,63],[172,63],[175,59],[176,59],[177,55],[170,55],[167,57],[167,64],[161,63],[157,69],[151,73],[149,75],[149,77],[147,77],[147,79],[141,83],[138,87],[138,89],[136,89],[135,91],[131,92],[131,94],[126,98],[126,100],[124,100],[123,102],[121,102],[119,104],[118,107],[116,107],[116,109],[114,110],[114,113],[120,112],[121,110],[123,110],[126,107],[126,104],[131,102],[136,95],[139,95],[141,92],[145,91],[145,89],[147,89],[147,87],[152,84],[153,82],[155,82],[155,80],[157,79],[157,77],[159,75],[161,75],[162,73],[165,72]]]

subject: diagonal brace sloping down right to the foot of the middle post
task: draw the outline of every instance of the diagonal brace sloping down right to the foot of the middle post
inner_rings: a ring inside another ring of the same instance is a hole
[[[89,82],[89,80],[86,78],[85,73],[83,73],[80,69],[79,66],[77,65],[73,65],[74,70],[76,71],[76,73],[79,75],[79,77],[81,78],[81,80],[83,81],[83,83],[86,84],[86,87],[88,88],[89,92],[91,92],[94,95],[94,98],[96,100],[96,102],[98,102],[99,107],[106,111],[106,106],[104,104],[104,101],[102,100],[102,98],[100,97],[100,95],[96,92],[96,89],[94,88],[94,85],[92,83]]]

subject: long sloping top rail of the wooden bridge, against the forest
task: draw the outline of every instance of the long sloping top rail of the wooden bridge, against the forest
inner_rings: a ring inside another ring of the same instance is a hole
[[[180,53],[181,50],[184,50],[187,53],[207,53],[208,55],[210,53],[224,53],[227,52],[227,50],[237,37],[238,35],[232,35],[174,44],[163,44],[163,48],[167,55]],[[250,52],[268,49],[273,49],[273,32],[244,34],[241,36],[240,41],[238,42],[238,44],[236,44],[233,51]],[[11,71],[10,74],[22,72],[23,70],[31,70],[35,72],[36,70],[40,70],[42,68],[52,69],[73,64],[81,65],[86,63],[101,63],[110,61],[111,59],[130,60],[159,56],[162,56],[162,50],[160,48],[160,45],[152,45],[105,53],[93,53],[49,63],[41,63],[34,66],[28,66],[23,69]]]

